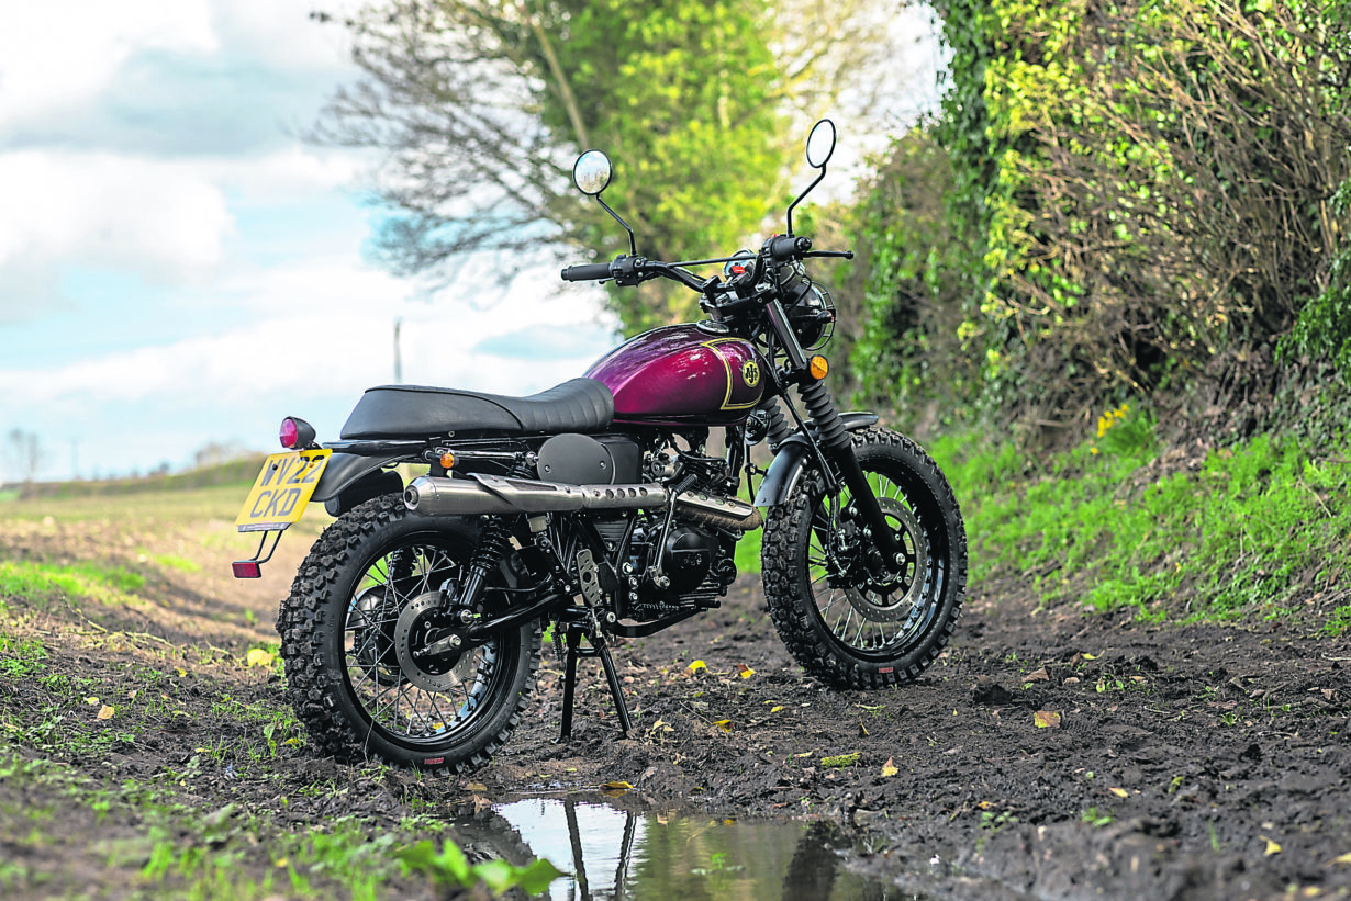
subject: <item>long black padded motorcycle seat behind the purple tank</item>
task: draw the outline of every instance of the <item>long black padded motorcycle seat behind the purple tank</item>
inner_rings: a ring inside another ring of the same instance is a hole
[[[430,438],[447,432],[557,435],[600,432],[615,419],[615,396],[594,378],[573,378],[530,397],[454,388],[370,388],[342,427],[345,440]]]

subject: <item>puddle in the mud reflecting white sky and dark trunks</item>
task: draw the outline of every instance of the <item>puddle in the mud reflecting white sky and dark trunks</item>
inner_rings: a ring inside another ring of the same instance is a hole
[[[543,856],[570,873],[550,886],[555,901],[915,897],[844,870],[824,824],[667,817],[570,796],[503,804],[455,827],[499,856]]]

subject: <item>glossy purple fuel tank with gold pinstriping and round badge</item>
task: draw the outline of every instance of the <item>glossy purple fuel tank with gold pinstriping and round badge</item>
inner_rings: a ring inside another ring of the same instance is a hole
[[[755,346],[698,326],[643,332],[586,376],[613,392],[616,423],[732,426],[765,393],[765,359]]]

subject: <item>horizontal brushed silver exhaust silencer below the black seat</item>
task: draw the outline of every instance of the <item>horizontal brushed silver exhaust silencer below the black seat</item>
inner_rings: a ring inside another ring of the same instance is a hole
[[[562,485],[480,473],[469,478],[419,475],[404,489],[404,505],[420,516],[651,509],[669,503],[670,492],[657,484]]]

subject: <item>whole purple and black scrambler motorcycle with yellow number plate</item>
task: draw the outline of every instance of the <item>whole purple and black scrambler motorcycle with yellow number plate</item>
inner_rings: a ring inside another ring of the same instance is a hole
[[[793,232],[835,143],[834,123],[816,123],[816,177],[784,235],[682,262],[638,254],[601,199],[611,161],[588,150],[576,186],[630,253],[562,278],[670,278],[698,293],[707,320],[638,335],[530,397],[372,388],[323,446],[304,420],[282,421],[288,450],[265,462],[236,523],[261,532],[258,551],[234,574],[258,577],[307,504],[335,517],[277,616],[286,696],[322,752],[442,773],[485,765],[526,711],[546,624],[565,659],[562,738],[582,658],[600,661],[627,735],[611,640],[719,607],[738,540],[759,528],[769,615],[808,674],[880,689],[938,658],[966,589],[957,498],[915,442],[836,408],[819,353],[835,308],[804,261],[852,253]],[[694,272],[712,265],[721,277]],[[405,486],[401,463],[427,473]],[[754,503],[743,475],[759,480]]]

